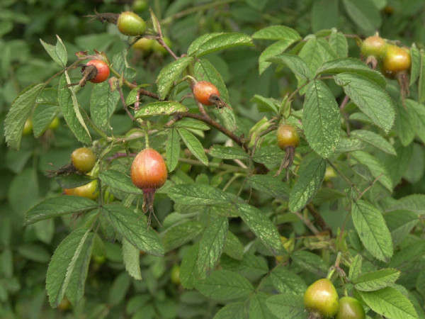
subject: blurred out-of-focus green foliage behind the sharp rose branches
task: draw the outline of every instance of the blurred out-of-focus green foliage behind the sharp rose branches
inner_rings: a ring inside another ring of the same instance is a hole
[[[4,118],[18,92],[60,70],[40,45],[40,38],[55,43],[55,35],[60,35],[67,47],[69,63],[76,60],[74,52],[81,50],[96,49],[113,56],[128,48],[128,61],[136,69],[137,83],[154,86],[159,70],[171,57],[132,50],[128,38],[120,35],[115,26],[85,17],[94,14],[95,9],[101,13],[132,10],[149,20],[149,7],[178,55],[204,33],[238,31],[251,35],[276,24],[295,28],[302,36],[337,28],[361,38],[379,31],[383,38],[399,40],[404,45],[416,43],[419,48],[425,43],[423,0],[1,0],[1,318],[123,318],[124,314],[128,318],[210,318],[216,311],[200,293],[183,291],[175,280],[175,270],[172,279],[172,264],[181,260],[186,252],[184,247],[165,259],[142,258],[144,280],[137,282],[126,274],[120,247],[113,243],[106,244],[106,256],[101,255],[91,263],[84,303],[77,309],[70,309],[64,303],[59,310],[52,310],[45,293],[47,264],[73,220],[55,220],[55,223],[47,220],[22,227],[23,215],[30,206],[49,194],[62,192],[55,181],[45,177],[50,163],[62,166],[69,161],[72,150],[80,146],[65,127],[63,118],[59,128],[47,129],[38,139],[24,136],[18,152],[4,143]],[[350,55],[358,56],[355,41],[348,43]],[[285,77],[288,71],[284,69],[269,67],[259,75],[259,55],[271,43],[256,41],[255,44],[249,49],[232,49],[207,57],[227,84],[232,106],[244,114],[239,123],[242,130],[248,130],[262,117],[261,109],[253,107],[251,102],[254,94],[281,99],[296,87],[295,79]],[[78,79],[78,71],[74,70],[72,76]],[[88,108],[90,90],[81,90],[79,94],[83,96],[79,101],[87,101],[82,106]],[[296,103],[300,101],[295,106]],[[119,106],[112,125],[116,134],[132,125]],[[207,143],[220,139],[214,132],[205,134]],[[423,161],[423,155],[420,158]],[[425,187],[420,186],[425,184],[422,181],[416,181],[412,187],[425,191],[420,189]],[[171,202],[158,198],[156,210],[165,216],[172,210]]]

